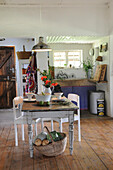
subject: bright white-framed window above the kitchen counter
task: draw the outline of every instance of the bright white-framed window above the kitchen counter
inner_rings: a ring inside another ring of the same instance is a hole
[[[75,67],[81,68],[83,62],[83,51],[59,51],[53,53],[55,67]]]

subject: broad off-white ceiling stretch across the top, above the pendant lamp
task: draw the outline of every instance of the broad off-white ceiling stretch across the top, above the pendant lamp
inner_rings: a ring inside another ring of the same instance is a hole
[[[112,1],[0,0],[0,37],[107,35]]]

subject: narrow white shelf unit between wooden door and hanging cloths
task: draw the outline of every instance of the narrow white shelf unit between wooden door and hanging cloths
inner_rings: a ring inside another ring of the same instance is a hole
[[[26,85],[26,69],[29,65],[29,59],[19,60],[19,76],[20,76],[20,95],[24,96]]]

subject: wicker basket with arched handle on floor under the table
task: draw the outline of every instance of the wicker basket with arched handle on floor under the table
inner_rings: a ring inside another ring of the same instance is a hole
[[[54,142],[48,128],[47,129],[48,134],[50,135],[52,143],[45,145],[45,146],[37,146],[35,145],[35,141],[33,143],[34,147],[43,155],[45,156],[57,156],[62,154],[65,151],[66,144],[67,144],[67,137],[65,133],[60,133],[64,138],[60,141]]]

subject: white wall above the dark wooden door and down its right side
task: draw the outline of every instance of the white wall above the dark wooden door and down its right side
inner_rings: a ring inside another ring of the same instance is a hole
[[[0,42],[0,46],[15,46],[15,52],[17,51],[23,51],[23,45],[25,45],[26,51],[31,51],[34,41],[32,39],[28,38],[6,38],[5,41]],[[15,69],[16,69],[16,77],[17,77],[17,95],[20,95],[20,76],[19,76],[19,61],[17,54],[16,55],[16,63],[15,63]]]

